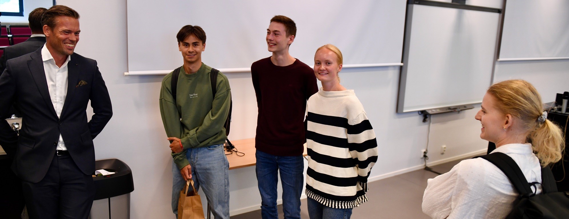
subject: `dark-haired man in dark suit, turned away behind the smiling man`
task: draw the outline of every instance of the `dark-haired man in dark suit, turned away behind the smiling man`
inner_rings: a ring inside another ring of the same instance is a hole
[[[46,44],[46,35],[43,35],[42,15],[47,9],[38,7],[28,15],[29,26],[32,35],[26,41],[4,48],[4,53],[0,57],[0,75],[6,69],[6,61],[34,52]]]

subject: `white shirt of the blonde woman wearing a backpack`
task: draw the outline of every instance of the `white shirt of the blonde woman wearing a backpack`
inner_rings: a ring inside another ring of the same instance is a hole
[[[505,144],[492,152],[507,154],[528,182],[541,183],[541,166],[531,144]],[[537,193],[541,193],[540,184]],[[432,218],[504,218],[517,196],[508,177],[494,164],[483,158],[467,159],[427,180],[422,208]]]

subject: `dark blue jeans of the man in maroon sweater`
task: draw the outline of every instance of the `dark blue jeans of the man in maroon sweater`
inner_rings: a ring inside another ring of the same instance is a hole
[[[300,194],[304,185],[304,161],[301,156],[275,156],[255,152],[257,182],[261,193],[261,217],[278,219],[277,183],[281,173],[284,218],[300,218]]]

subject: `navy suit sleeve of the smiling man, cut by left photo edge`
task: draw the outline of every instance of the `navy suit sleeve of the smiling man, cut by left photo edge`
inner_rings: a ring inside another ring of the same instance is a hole
[[[2,118],[0,119],[0,145],[10,155],[16,151],[18,135],[4,118],[8,118],[10,106],[14,102],[15,84],[15,79],[11,75],[10,67],[8,67],[5,73],[0,76],[0,118]]]

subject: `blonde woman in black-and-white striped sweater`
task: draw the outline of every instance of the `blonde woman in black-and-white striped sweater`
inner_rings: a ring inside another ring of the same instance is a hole
[[[377,161],[377,142],[364,107],[340,85],[342,53],[327,44],[316,50],[314,73],[322,87],[308,99],[306,143],[308,214],[350,218],[368,200],[368,176]]]

